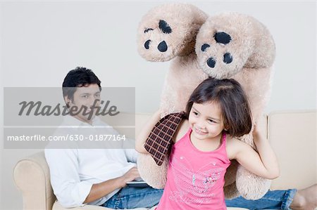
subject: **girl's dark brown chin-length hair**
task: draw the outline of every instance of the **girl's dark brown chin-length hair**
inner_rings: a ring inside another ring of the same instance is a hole
[[[194,103],[216,102],[223,113],[223,124],[230,136],[240,137],[251,131],[251,110],[242,86],[235,79],[209,79],[197,86],[189,97],[186,114]]]

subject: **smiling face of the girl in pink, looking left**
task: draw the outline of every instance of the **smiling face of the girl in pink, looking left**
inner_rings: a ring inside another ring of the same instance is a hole
[[[194,103],[188,121],[192,129],[191,137],[197,140],[218,140],[225,129],[223,114],[216,102]]]

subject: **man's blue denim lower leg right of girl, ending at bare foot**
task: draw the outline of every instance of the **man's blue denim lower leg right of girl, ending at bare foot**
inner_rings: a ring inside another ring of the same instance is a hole
[[[244,199],[237,197],[235,199],[226,199],[225,204],[228,207],[240,207],[246,209],[290,209],[293,197],[297,190],[269,190],[266,195],[257,200]]]

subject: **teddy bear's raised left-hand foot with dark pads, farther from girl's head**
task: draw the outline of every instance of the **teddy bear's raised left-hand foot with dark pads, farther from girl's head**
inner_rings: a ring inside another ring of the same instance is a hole
[[[149,61],[168,61],[194,52],[207,15],[190,4],[163,4],[143,16],[137,29],[139,54]]]

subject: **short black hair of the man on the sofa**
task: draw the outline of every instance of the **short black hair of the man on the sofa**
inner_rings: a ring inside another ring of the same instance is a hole
[[[98,84],[101,91],[101,81],[96,74],[85,67],[76,67],[66,75],[63,81],[63,97],[66,96],[73,100],[76,87],[89,86],[89,84]]]

